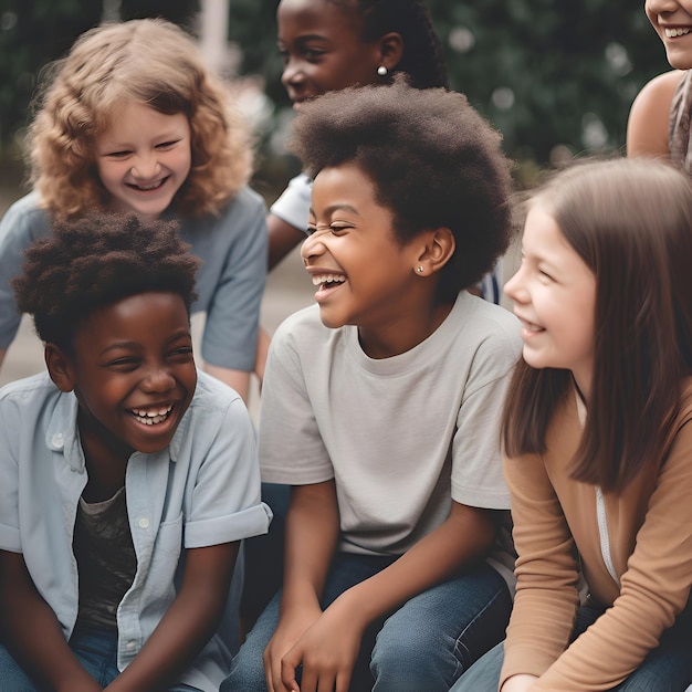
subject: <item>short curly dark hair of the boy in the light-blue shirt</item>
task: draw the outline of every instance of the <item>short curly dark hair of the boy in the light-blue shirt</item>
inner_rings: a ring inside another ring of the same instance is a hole
[[[55,223],[25,252],[23,273],[11,280],[20,312],[36,334],[67,352],[91,313],[118,301],[161,291],[177,293],[188,313],[201,264],[172,221],[135,214],[94,214]]]

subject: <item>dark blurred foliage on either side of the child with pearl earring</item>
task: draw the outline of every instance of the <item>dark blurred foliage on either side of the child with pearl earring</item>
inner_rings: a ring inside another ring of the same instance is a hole
[[[242,71],[261,73],[280,107],[276,0],[231,0]],[[643,12],[629,0],[428,0],[450,85],[502,130],[507,153],[545,166],[622,149],[637,92],[669,70]]]

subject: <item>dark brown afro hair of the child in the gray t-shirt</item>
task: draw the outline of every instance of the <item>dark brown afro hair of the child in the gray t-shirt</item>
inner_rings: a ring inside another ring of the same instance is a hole
[[[508,245],[512,161],[463,94],[413,88],[402,76],[329,92],[301,105],[290,146],[313,178],[357,166],[394,212],[401,243],[449,228],[457,250],[442,270],[443,300],[480,281]]]

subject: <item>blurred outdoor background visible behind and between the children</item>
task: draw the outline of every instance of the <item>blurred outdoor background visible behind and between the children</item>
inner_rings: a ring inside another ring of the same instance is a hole
[[[103,21],[165,17],[195,34],[227,80],[258,138],[253,187],[268,205],[298,161],[284,150],[293,111],[280,82],[277,0],[0,0],[0,216],[23,195],[22,137],[41,71]],[[504,136],[520,186],[574,156],[623,151],[641,86],[669,69],[643,2],[428,0],[451,87]],[[295,256],[270,276],[263,323],[273,331],[312,302]],[[23,325],[24,334],[31,333]],[[0,384],[42,367],[40,345],[18,339]]]

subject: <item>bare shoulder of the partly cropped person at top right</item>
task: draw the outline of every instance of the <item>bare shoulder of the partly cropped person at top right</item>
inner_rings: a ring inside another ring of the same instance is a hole
[[[673,70],[648,82],[635,98],[627,123],[627,156],[669,157],[670,106],[684,72]]]

